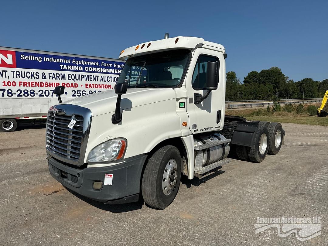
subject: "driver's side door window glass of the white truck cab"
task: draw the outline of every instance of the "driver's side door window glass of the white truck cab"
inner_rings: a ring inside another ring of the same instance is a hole
[[[207,62],[209,61],[219,61],[217,57],[200,55],[198,57],[195,70],[193,73],[192,86],[195,90],[204,90],[206,85],[206,72],[207,72]]]

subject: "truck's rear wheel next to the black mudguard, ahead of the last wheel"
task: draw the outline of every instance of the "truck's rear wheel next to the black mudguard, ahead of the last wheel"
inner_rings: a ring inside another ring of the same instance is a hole
[[[251,161],[262,162],[269,150],[269,133],[268,129],[264,126],[259,127],[253,146],[248,148],[248,156]]]

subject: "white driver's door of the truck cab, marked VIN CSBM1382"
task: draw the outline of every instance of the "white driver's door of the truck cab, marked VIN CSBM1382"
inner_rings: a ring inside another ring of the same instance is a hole
[[[210,92],[206,99],[196,104],[194,101],[195,94],[204,95],[207,91],[205,88],[207,87],[207,62],[209,61],[219,63],[218,86],[216,90]],[[189,128],[193,133],[215,131],[223,127],[225,106],[224,66],[222,52],[204,48],[197,48],[194,51],[185,81],[188,90],[186,110],[189,116]]]

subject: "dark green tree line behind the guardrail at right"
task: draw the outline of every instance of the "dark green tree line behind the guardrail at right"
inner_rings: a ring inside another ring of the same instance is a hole
[[[328,79],[294,82],[278,67],[249,72],[243,83],[235,72],[226,73],[226,101],[303,98],[303,93],[304,98],[321,98],[327,90]]]

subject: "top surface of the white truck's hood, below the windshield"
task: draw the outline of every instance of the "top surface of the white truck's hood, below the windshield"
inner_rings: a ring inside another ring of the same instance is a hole
[[[88,108],[92,116],[96,116],[114,112],[116,99],[117,94],[114,90],[110,90],[65,101],[62,104]],[[175,92],[172,88],[129,88],[127,93],[122,95],[121,110],[170,99],[175,99]]]

